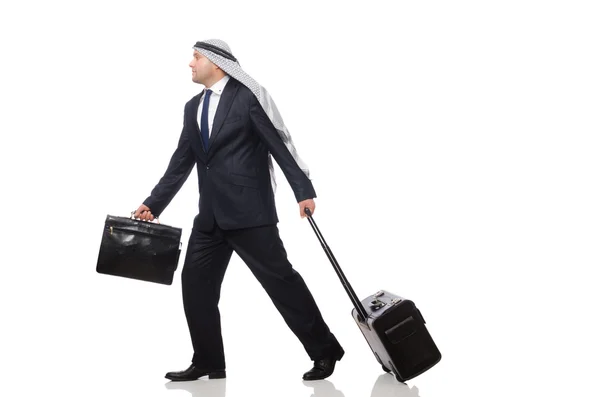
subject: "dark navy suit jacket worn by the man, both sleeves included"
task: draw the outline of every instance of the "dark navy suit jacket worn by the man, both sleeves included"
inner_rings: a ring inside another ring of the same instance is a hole
[[[165,174],[144,201],[154,216],[160,216],[197,165],[200,198],[194,219],[196,229],[210,231],[215,221],[225,230],[277,223],[269,152],[298,202],[316,197],[311,181],[258,99],[233,78],[221,94],[206,151],[197,121],[202,95],[186,103],[177,149]]]

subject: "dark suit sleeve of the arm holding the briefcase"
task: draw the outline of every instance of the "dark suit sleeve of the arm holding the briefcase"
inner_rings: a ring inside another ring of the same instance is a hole
[[[173,200],[173,197],[179,192],[192,172],[195,164],[194,153],[184,125],[179,143],[171,156],[167,170],[152,189],[150,196],[144,200],[144,204],[150,208],[154,216],[158,217]]]

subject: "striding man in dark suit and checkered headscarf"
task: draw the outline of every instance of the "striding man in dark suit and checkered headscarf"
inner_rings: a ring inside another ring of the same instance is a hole
[[[193,47],[192,81],[205,89],[184,109],[183,131],[168,168],[135,217],[152,221],[179,191],[194,165],[200,190],[181,274],[194,354],[189,368],[166,378],[225,377],[218,302],[233,251],[259,280],[312,361],[305,380],[333,373],[344,350],[325,324],[279,238],[271,156],[299,203],[315,209],[316,193],[277,108],[221,40]],[[242,335],[240,335],[242,336]]]

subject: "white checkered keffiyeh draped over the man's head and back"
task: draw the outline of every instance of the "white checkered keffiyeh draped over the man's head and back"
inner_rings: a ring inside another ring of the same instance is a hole
[[[204,40],[201,43],[206,43],[206,44],[216,46],[224,51],[227,51],[229,54],[231,54],[231,50],[229,49],[229,46],[227,45],[227,43],[225,43],[222,40],[211,39],[211,40]],[[306,165],[306,163],[304,163],[304,161],[302,161],[302,159],[298,155],[298,151],[296,150],[294,143],[292,142],[292,137],[291,137],[289,131],[287,130],[285,124],[283,123],[283,119],[281,118],[281,115],[279,114],[279,111],[277,110],[277,106],[275,106],[275,102],[273,101],[273,99],[271,98],[271,96],[269,95],[267,90],[264,87],[262,87],[260,84],[258,84],[246,72],[244,72],[242,70],[239,62],[233,61],[231,59],[227,59],[226,57],[224,57],[222,55],[219,55],[213,51],[210,51],[210,50],[207,50],[204,48],[199,48],[196,46],[194,46],[193,48],[194,48],[194,50],[198,51],[199,53],[201,53],[202,55],[207,57],[212,63],[214,63],[215,65],[220,67],[229,76],[233,77],[240,83],[244,84],[246,87],[248,87],[250,89],[250,91],[252,91],[254,93],[254,95],[258,99],[258,102],[261,104],[261,106],[265,110],[265,113],[267,114],[267,116],[269,116],[269,119],[271,119],[271,122],[273,123],[273,125],[275,126],[275,129],[279,133],[281,140],[283,141],[283,143],[285,143],[285,146],[288,148],[288,150],[294,157],[294,160],[296,160],[296,162],[298,163],[298,166],[300,167],[300,169],[302,169],[302,171],[306,174],[306,176],[309,177],[310,174],[309,174],[308,166]],[[273,186],[273,192],[275,192],[277,189],[277,182],[275,181],[275,169],[273,168],[273,159],[272,159],[272,156],[270,153],[269,153],[269,172],[271,174],[271,184]]]

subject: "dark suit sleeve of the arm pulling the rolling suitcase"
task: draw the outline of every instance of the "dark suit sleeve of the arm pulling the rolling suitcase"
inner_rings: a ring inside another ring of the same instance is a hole
[[[269,152],[273,155],[277,164],[279,164],[279,167],[281,167],[283,174],[294,191],[296,200],[300,202],[317,197],[312,182],[300,168],[294,156],[292,156],[292,153],[258,102],[258,99],[254,95],[250,96],[250,120],[252,128],[267,146]]]

